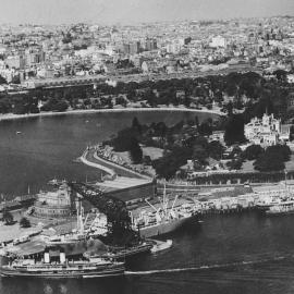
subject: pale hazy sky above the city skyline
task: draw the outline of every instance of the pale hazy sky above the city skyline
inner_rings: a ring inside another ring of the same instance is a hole
[[[0,23],[134,24],[294,15],[294,0],[0,0]]]

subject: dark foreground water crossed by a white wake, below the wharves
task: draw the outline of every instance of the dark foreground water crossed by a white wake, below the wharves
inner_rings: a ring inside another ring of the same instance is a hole
[[[293,216],[223,215],[174,233],[173,247],[109,280],[0,280],[0,293],[293,293]]]

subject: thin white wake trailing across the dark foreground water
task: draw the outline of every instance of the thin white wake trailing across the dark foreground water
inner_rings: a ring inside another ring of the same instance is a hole
[[[246,265],[258,265],[269,261],[279,261],[287,258],[293,258],[294,256],[279,256],[273,258],[258,259],[258,260],[248,260],[248,261],[238,261],[230,264],[217,264],[210,266],[200,266],[200,267],[186,267],[186,268],[175,268],[175,269],[158,269],[158,270],[146,270],[146,271],[125,271],[126,275],[148,275],[157,273],[173,273],[173,272],[188,272],[188,271],[199,271],[199,270],[209,270],[209,269],[223,269],[230,267],[242,267]]]

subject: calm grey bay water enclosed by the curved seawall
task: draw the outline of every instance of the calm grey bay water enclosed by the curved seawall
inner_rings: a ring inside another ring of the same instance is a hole
[[[69,114],[0,121],[0,193],[22,195],[46,188],[51,179],[100,179],[96,169],[73,162],[89,144],[96,144],[122,127],[134,115],[140,123],[164,121],[173,124],[184,119],[199,121],[208,115],[192,112],[122,112]]]

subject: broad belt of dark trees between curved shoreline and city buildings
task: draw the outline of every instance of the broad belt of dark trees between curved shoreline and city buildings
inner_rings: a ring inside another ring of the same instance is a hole
[[[0,77],[0,84],[5,81]],[[225,107],[229,115],[233,108],[246,108],[244,122],[250,118],[261,117],[268,110],[279,118],[293,115],[287,111],[286,97],[291,85],[283,79],[266,81],[262,76],[249,73],[230,73],[224,76],[205,76],[197,78],[173,78],[163,81],[144,81],[140,83],[118,83],[115,87],[100,84],[53,89],[34,89],[14,96],[1,94],[0,112],[29,113],[37,112],[36,101],[45,102],[42,111],[64,111],[75,108],[112,108],[111,97],[115,103],[126,107],[127,101],[146,101],[147,106],[185,105],[186,107],[211,106],[215,101],[226,106],[225,97],[233,101]],[[181,91],[180,95],[177,95]],[[124,98],[126,97],[127,100]],[[246,99],[244,99],[244,97]],[[17,100],[16,102],[14,100]],[[81,100],[84,101],[81,105]],[[16,105],[16,107],[15,107]]]

